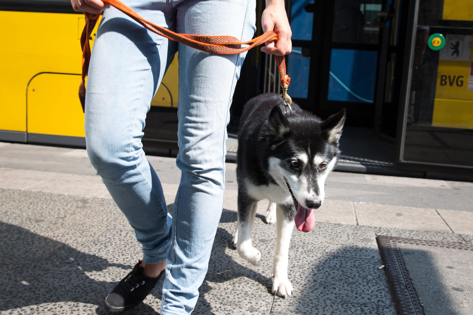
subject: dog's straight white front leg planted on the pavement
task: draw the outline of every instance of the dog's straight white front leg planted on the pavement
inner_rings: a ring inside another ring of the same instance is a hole
[[[292,284],[288,279],[289,243],[294,228],[295,210],[292,204],[276,206],[276,253],[274,255],[272,293],[285,298],[290,296]]]

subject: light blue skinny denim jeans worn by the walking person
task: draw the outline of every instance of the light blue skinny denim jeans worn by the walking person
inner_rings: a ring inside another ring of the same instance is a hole
[[[142,17],[178,33],[255,31],[255,0],[125,0]],[[178,145],[182,171],[173,218],[142,149],[150,102],[179,51]],[[142,244],[143,260],[167,259],[161,312],[190,314],[208,269],[223,207],[229,108],[245,54],[214,55],[177,44],[111,8],[92,50],[87,152]]]

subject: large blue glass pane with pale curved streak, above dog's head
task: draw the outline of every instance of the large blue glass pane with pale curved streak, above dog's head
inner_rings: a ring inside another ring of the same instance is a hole
[[[333,49],[327,99],[372,103],[377,55],[377,51]]]

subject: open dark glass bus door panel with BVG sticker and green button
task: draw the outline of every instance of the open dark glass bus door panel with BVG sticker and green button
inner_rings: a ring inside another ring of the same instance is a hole
[[[473,173],[472,2],[412,2],[398,164]]]

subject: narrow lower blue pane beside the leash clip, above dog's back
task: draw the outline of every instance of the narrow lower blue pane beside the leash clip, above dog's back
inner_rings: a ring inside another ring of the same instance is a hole
[[[301,47],[292,47],[288,58],[287,73],[291,78],[289,86],[289,95],[291,97],[307,98],[307,89],[309,87],[309,67],[310,57],[302,55]]]

